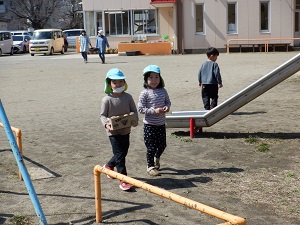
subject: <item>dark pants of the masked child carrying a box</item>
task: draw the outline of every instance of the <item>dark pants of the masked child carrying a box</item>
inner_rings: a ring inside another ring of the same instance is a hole
[[[109,136],[109,140],[113,150],[113,157],[109,160],[107,165],[109,167],[116,167],[118,173],[127,175],[125,157],[129,149],[129,134],[112,135]]]

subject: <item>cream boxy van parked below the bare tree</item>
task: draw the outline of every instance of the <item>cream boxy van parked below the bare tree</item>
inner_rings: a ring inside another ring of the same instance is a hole
[[[64,37],[60,29],[40,29],[33,32],[29,42],[31,56],[35,54],[52,55],[53,53],[65,53]]]

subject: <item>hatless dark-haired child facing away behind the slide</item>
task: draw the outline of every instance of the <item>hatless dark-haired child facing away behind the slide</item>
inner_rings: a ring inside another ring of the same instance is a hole
[[[219,88],[223,87],[219,65],[216,63],[219,51],[209,48],[205,61],[198,73],[199,86],[202,87],[202,101],[205,110],[211,110],[218,105]]]

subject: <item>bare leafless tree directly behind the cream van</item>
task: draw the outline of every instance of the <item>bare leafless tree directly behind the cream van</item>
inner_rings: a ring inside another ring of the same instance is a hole
[[[11,0],[9,11],[24,25],[42,29],[50,18],[62,12],[63,0]]]

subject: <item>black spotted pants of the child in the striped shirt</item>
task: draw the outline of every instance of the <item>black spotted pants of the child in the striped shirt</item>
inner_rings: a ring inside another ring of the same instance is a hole
[[[147,166],[154,166],[154,157],[160,158],[167,147],[166,126],[144,124],[144,143],[147,148]]]

